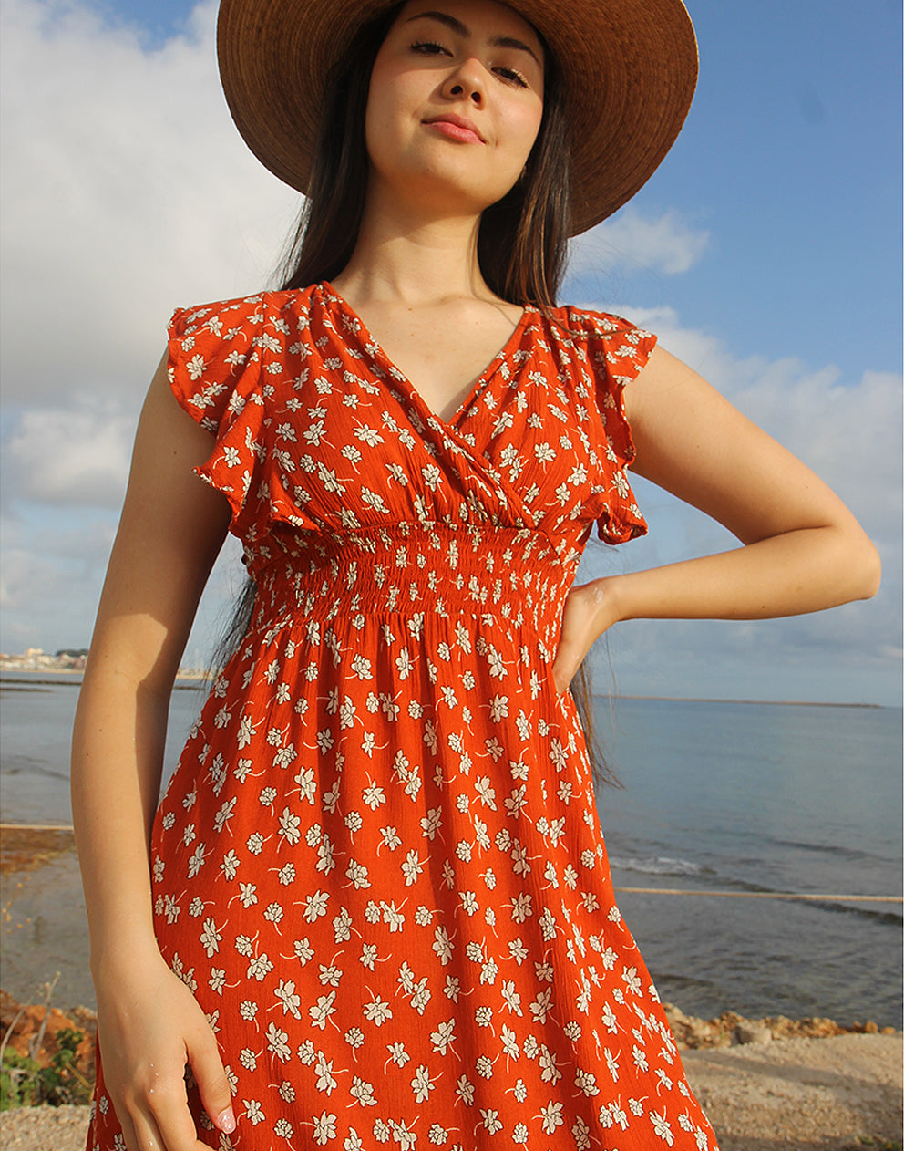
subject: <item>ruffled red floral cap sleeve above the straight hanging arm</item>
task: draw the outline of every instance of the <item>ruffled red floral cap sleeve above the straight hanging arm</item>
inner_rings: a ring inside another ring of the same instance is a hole
[[[260,342],[262,297],[177,308],[169,321],[169,386],[181,406],[215,440],[194,471],[232,509],[230,531],[260,534],[266,509],[252,481],[265,453]]]

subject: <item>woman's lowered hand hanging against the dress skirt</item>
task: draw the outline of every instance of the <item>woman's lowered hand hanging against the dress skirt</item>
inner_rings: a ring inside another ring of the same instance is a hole
[[[104,1077],[128,1151],[208,1151],[185,1091],[191,1066],[205,1111],[235,1130],[229,1083],[198,1000],[156,953],[127,974],[98,980]]]

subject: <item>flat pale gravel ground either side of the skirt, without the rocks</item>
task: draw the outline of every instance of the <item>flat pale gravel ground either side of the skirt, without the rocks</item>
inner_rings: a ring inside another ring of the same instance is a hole
[[[855,1151],[901,1141],[901,1035],[782,1039],[682,1059],[721,1151]],[[0,1145],[83,1151],[86,1127],[86,1107],[7,1111]]]

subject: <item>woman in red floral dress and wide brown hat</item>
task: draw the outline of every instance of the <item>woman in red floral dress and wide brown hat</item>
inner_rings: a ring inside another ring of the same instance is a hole
[[[813,611],[879,572],[654,337],[554,306],[565,238],[677,134],[687,14],[223,0],[220,55],[311,206],[286,290],[176,313],[138,428],[74,742],[89,1145],[714,1148],[567,689],[616,622]],[[742,547],[573,587],[593,523],[645,531],[627,464]],[[156,809],[228,529],[253,612]]]

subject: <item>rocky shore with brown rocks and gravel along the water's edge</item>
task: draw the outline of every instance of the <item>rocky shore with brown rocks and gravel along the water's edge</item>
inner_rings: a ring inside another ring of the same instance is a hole
[[[672,1004],[666,1013],[722,1151],[901,1151],[903,1049],[894,1028],[733,1012],[703,1020]],[[7,1051],[43,1067],[71,1051],[70,1085],[90,1082],[93,1012],[23,1006],[0,992],[0,1028]],[[82,1151],[86,1127],[85,1106],[20,1107],[0,1113],[0,1145]]]

